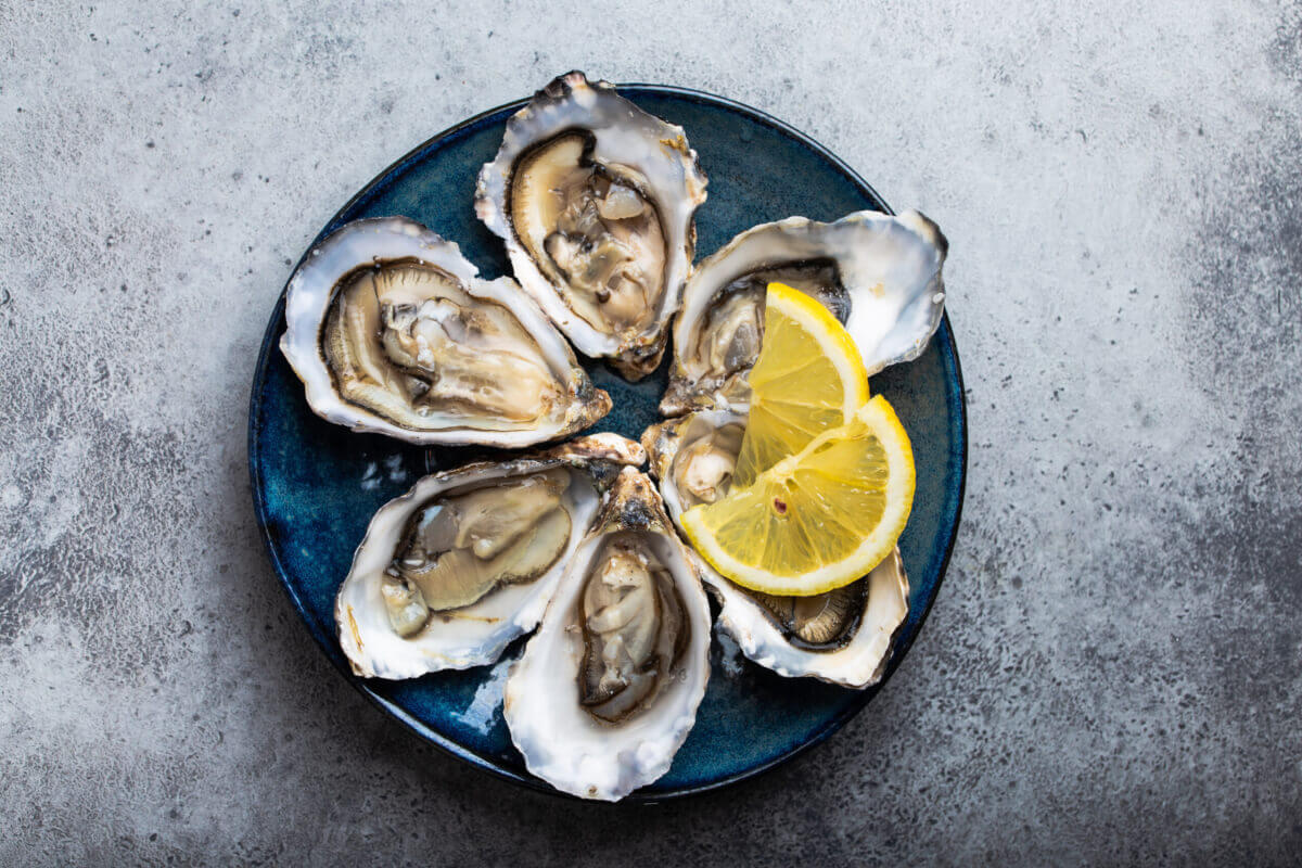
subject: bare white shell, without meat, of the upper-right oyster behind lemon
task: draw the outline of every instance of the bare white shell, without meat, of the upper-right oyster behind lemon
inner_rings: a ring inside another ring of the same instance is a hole
[[[835,260],[850,297],[845,328],[868,375],[918,358],[944,312],[941,267],[948,250],[936,224],[917,211],[900,216],[857,211],[835,223],[788,217],[747,229],[702,260],[684,289],[673,325],[674,364],[660,411],[677,415],[694,406],[729,406],[723,396],[710,394],[711,384],[699,383],[706,372],[685,354],[697,345],[716,295],[764,268]]]

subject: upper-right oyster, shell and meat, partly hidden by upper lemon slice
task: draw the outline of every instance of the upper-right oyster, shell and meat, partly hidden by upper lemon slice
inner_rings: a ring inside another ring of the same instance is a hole
[[[944,311],[948,247],[917,211],[858,211],[835,223],[788,217],[747,229],[700,262],[684,289],[660,413],[746,409],[771,281],[823,302],[854,338],[868,375],[917,358]]]

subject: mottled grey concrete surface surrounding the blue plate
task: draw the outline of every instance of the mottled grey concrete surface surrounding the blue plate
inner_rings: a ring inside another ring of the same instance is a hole
[[[0,0],[0,863],[1285,864],[1302,852],[1302,7]],[[245,426],[290,263],[553,74],[809,131],[953,242],[965,519],[870,709],[599,809],[312,644]]]

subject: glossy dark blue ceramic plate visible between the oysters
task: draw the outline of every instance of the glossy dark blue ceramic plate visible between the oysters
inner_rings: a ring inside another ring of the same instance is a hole
[[[676,87],[628,85],[620,92],[680,124],[700,155],[710,177],[710,199],[697,213],[700,255],[758,223],[792,215],[835,220],[862,208],[888,211],[841,160],[762,112]],[[479,167],[493,157],[506,118],[522,104],[473,117],[408,154],[344,206],[318,241],[350,220],[404,215],[460,243],[482,276],[509,273],[500,241],[474,216],[473,197]],[[349,674],[335,640],[333,600],[371,514],[423,474],[456,467],[486,450],[426,450],[318,419],[277,349],[283,329],[284,294],[267,324],[254,375],[249,465],[271,561],[307,629],[358,690],[417,735],[495,774],[551,791],[525,770],[503,722],[505,665],[408,682]],[[613,413],[595,429],[637,440],[658,420],[668,358],[638,384],[625,383],[602,363],[587,363],[595,383],[615,400]],[[918,465],[913,517],[900,540],[909,571],[909,617],[896,636],[888,679],[940,588],[962,505],[963,389],[948,320],[922,358],[887,370],[871,387],[896,407]],[[512,645],[506,660],[517,657],[522,645],[523,640]],[[773,768],[835,733],[881,688],[854,691],[809,678],[781,678],[717,639],[711,662],[710,690],[673,766],[633,798],[699,793]]]

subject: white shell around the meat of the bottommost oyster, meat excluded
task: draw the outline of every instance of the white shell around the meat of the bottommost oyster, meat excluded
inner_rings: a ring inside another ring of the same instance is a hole
[[[669,770],[697,720],[710,679],[710,604],[695,558],[673,532],[660,496],[643,474],[625,468],[599,526],[570,558],[542,626],[506,678],[503,714],[529,770],[562,793],[616,802]],[[578,703],[583,639],[569,630],[591,558],[608,534],[646,531],[677,583],[691,625],[681,677],[654,705],[622,724],[605,724]]]

